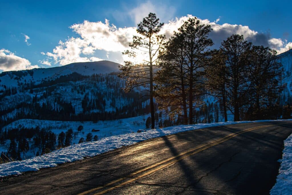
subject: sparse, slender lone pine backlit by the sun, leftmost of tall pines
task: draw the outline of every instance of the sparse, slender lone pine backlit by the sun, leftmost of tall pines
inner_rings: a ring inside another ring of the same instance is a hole
[[[159,32],[163,23],[159,22],[156,14],[149,13],[147,17],[143,18],[142,22],[138,24],[137,32],[139,36],[133,36],[133,42],[129,44],[131,51],[123,52],[133,61],[125,61],[125,65],[120,66],[122,71],[119,77],[126,79],[125,91],[129,92],[134,87],[146,85],[149,87],[150,96],[150,113],[151,113],[151,128],[154,129],[154,101],[153,101],[153,77],[155,68],[157,68],[157,55],[165,40],[164,35]],[[139,55],[139,53],[140,55]],[[144,56],[147,56],[145,58]],[[138,58],[142,61],[139,61]]]

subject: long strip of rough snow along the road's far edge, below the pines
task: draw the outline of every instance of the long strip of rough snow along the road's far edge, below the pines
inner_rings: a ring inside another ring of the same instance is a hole
[[[152,129],[142,133],[130,133],[124,135],[117,135],[106,137],[98,141],[84,142],[75,144],[66,148],[55,150],[51,153],[30,158],[24,161],[14,161],[10,163],[0,164],[0,177],[8,175],[18,175],[25,171],[36,171],[40,168],[54,167],[58,164],[73,162],[84,157],[96,156],[98,154],[111,151],[122,146],[128,146],[140,141],[162,137],[165,135],[175,134],[184,131],[191,131],[207,127],[215,127],[222,125],[231,125],[249,122],[267,122],[272,120],[258,120],[258,121],[239,121],[239,122],[219,122],[197,125],[179,125],[173,127],[166,127],[162,129]],[[291,170],[291,169],[290,169]]]

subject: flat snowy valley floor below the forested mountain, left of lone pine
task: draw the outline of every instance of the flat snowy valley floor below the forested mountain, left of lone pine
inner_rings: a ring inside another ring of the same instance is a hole
[[[139,129],[147,130],[146,129],[146,120],[150,116],[138,116],[133,118],[124,118],[119,120],[105,120],[105,121],[55,121],[55,120],[34,120],[34,119],[21,119],[12,122],[11,124],[3,127],[3,131],[11,130],[13,128],[35,128],[37,126],[44,128],[48,131],[52,131],[57,136],[61,132],[66,132],[68,129],[72,129],[76,136],[73,136],[72,144],[78,144],[81,137],[86,139],[86,135],[88,133],[92,133],[93,137],[95,135],[98,136],[99,139],[110,137],[114,135],[122,135],[137,132]],[[78,127],[82,125],[83,130],[77,133]],[[92,130],[99,130],[98,132],[92,132]],[[6,144],[0,146],[0,153],[7,152],[9,148],[10,141],[6,141]],[[33,144],[33,141],[29,141],[29,146]],[[35,156],[35,153],[39,151],[41,153],[41,149],[36,148],[35,151],[27,151],[21,155],[22,159],[28,159]]]

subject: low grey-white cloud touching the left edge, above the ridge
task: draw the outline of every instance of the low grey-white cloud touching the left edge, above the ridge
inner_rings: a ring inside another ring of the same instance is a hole
[[[19,56],[15,56],[14,53],[7,49],[0,49],[0,70],[25,70],[39,68],[38,65],[31,65],[31,63]]]

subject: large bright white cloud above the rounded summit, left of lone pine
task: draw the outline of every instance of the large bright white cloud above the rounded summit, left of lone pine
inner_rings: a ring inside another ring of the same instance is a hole
[[[105,23],[85,20],[81,24],[70,26],[70,28],[80,37],[70,37],[65,42],[60,41],[53,52],[46,53],[48,57],[52,57],[55,63],[60,63],[60,65],[102,60],[90,55],[93,55],[95,50],[124,51],[133,35],[137,34],[135,27],[117,28],[110,25],[108,20],[105,20]]]

